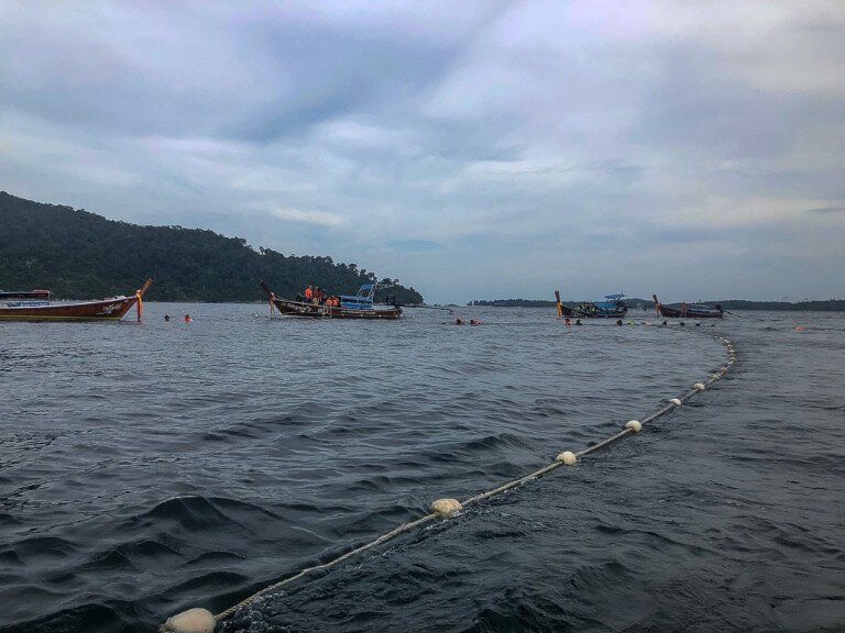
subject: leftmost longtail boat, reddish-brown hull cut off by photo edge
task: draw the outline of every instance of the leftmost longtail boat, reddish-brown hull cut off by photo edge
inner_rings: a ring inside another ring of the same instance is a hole
[[[99,301],[51,302],[48,290],[0,292],[0,321],[120,321],[135,307],[138,321],[144,310],[144,292],[152,286],[147,279],[133,295]]]

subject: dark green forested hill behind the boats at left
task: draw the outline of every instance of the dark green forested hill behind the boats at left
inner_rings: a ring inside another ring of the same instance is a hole
[[[212,231],[139,226],[0,191],[0,288],[99,298],[134,291],[146,277],[155,279],[149,298],[157,301],[261,300],[262,279],[282,297],[294,297],[308,284],[354,293],[376,279],[331,257],[254,251],[245,240]],[[414,288],[395,286],[384,293],[422,303]]]

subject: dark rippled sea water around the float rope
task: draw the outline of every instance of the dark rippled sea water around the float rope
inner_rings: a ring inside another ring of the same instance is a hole
[[[739,360],[689,406],[226,631],[845,630],[844,315],[409,312],[0,323],[0,631],[221,611],[645,417],[724,363],[713,333]]]

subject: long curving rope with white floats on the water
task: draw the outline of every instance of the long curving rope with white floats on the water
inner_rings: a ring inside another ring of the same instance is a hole
[[[650,325],[650,324],[645,323],[645,325]],[[693,332],[693,331],[690,331],[690,332]],[[322,571],[326,569],[330,569],[331,567],[334,567],[336,565],[339,565],[340,563],[343,563],[344,560],[352,558],[353,556],[356,556],[358,554],[362,554],[367,549],[372,549],[373,547],[383,545],[384,543],[392,541],[396,536],[399,536],[400,534],[409,532],[415,528],[425,525],[426,523],[430,523],[431,521],[436,521],[438,519],[439,520],[449,519],[453,517],[456,513],[460,512],[467,506],[479,503],[480,501],[484,501],[486,499],[490,499],[491,497],[501,495],[502,492],[511,490],[512,488],[516,488],[517,486],[523,486],[528,481],[542,477],[544,475],[548,475],[549,473],[551,473],[557,468],[560,468],[561,466],[574,466],[583,457],[586,457],[588,455],[595,453],[596,451],[600,451],[605,446],[608,446],[614,442],[622,440],[626,435],[639,433],[643,430],[644,425],[650,422],[654,422],[658,418],[661,418],[670,413],[678,407],[683,406],[683,403],[687,400],[689,400],[696,393],[700,393],[701,391],[706,390],[711,385],[713,385],[717,380],[721,380],[722,377],[731,370],[731,368],[737,360],[736,349],[734,348],[733,342],[731,342],[728,338],[725,338],[724,336],[718,336],[718,335],[714,335],[714,338],[720,341],[727,349],[728,360],[724,366],[722,366],[715,373],[711,374],[710,378],[706,381],[695,382],[692,386],[692,389],[690,391],[687,391],[685,393],[683,393],[678,398],[671,398],[670,400],[668,400],[669,402],[668,404],[658,409],[657,411],[644,418],[643,420],[629,420],[625,424],[624,429],[618,433],[611,435],[610,437],[596,444],[588,446],[586,448],[583,448],[582,451],[579,451],[577,453],[572,451],[563,451],[556,457],[555,462],[552,462],[551,464],[544,466],[542,468],[539,468],[534,473],[529,473],[528,475],[524,475],[517,479],[507,481],[506,484],[503,484],[497,488],[493,488],[492,490],[487,490],[485,492],[480,492],[473,497],[464,499],[463,501],[458,501],[457,499],[438,499],[431,503],[431,512],[429,514],[426,514],[425,517],[420,517],[419,519],[416,519],[414,521],[403,523],[402,525],[394,528],[389,532],[382,534],[381,536],[374,538],[373,541],[370,541],[364,545],[355,547],[354,549],[351,549],[345,554],[341,554],[340,556],[332,558],[327,563],[314,565],[312,567],[306,567],[305,569],[301,569],[300,571],[294,574],[293,576],[283,578],[278,582],[274,582],[273,585],[265,587],[260,591],[256,591],[252,596],[244,598],[237,604],[233,604],[226,611],[221,611],[216,615],[213,615],[210,611],[207,611],[206,609],[188,609],[187,611],[184,611],[177,615],[174,615],[173,618],[169,618],[158,629],[160,632],[161,633],[213,633],[217,622],[226,620],[230,615],[234,614],[235,611],[238,611],[242,607],[246,607],[251,604],[252,602],[254,602],[259,598],[262,598],[263,596],[274,593],[278,589],[282,589],[283,587],[292,582],[295,582],[296,580],[307,576],[308,574],[311,574],[314,571]]]

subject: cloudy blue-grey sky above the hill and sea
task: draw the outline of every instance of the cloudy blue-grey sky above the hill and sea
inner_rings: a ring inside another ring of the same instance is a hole
[[[0,189],[430,302],[845,297],[845,3],[0,0]]]

